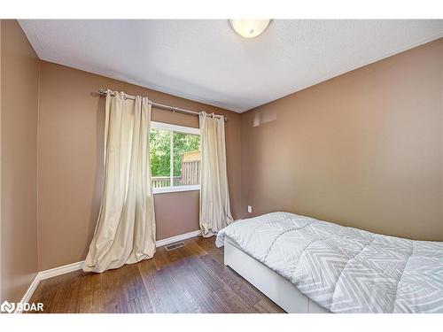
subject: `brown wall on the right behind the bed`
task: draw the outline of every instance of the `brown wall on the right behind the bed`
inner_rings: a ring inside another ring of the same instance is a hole
[[[242,216],[443,241],[442,99],[439,39],[243,113]]]

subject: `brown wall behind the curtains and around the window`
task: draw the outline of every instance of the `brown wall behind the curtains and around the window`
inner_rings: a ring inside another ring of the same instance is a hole
[[[40,270],[86,257],[100,207],[105,98],[100,88],[228,116],[228,177],[232,212],[240,212],[240,115],[42,61],[39,120]],[[152,120],[198,127],[198,117],[152,109]],[[198,191],[155,195],[157,239],[198,229]]]

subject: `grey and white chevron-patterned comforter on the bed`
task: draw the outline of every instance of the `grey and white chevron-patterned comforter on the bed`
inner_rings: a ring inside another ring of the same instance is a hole
[[[443,243],[377,235],[288,212],[221,229],[332,313],[443,313]]]

